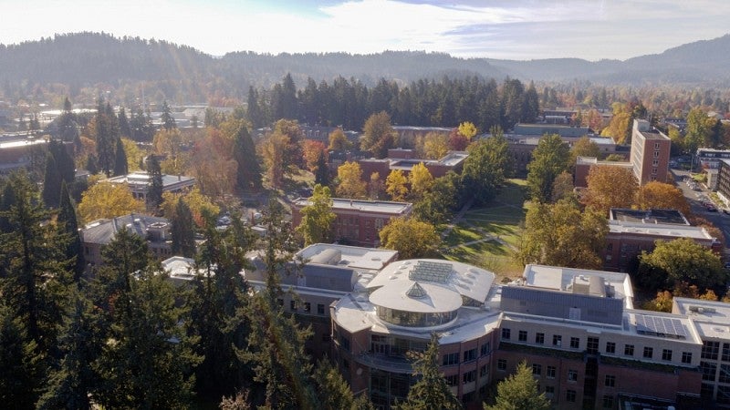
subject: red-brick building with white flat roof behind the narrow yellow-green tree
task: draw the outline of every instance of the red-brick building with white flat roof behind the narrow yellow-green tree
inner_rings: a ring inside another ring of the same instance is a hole
[[[309,204],[306,198],[299,198],[292,203],[293,227],[296,228],[301,223],[301,210]],[[332,224],[332,233],[337,241],[376,247],[381,242],[378,236],[381,228],[393,218],[411,215],[412,208],[413,205],[408,202],[333,198],[332,211],[336,218]]]

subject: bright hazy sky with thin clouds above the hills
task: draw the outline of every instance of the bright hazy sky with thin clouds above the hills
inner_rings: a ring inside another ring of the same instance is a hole
[[[79,31],[231,51],[626,59],[730,33],[727,0],[0,0],[0,43]]]

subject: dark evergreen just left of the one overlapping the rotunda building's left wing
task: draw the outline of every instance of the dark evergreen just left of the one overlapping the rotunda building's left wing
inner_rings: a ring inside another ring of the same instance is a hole
[[[200,339],[195,353],[203,356],[196,369],[196,391],[214,400],[233,395],[253,375],[239,359],[250,323],[242,314],[248,304],[248,287],[241,272],[249,268],[246,253],[254,249],[255,236],[234,216],[225,231],[215,227],[215,215],[203,210],[205,241],[196,261],[198,276],[186,305],[190,308],[188,334]],[[256,320],[258,322],[258,320]]]

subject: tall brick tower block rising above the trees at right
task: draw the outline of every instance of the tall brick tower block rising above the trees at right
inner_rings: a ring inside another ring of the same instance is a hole
[[[650,126],[645,119],[634,119],[631,128],[631,166],[643,185],[652,180],[667,182],[672,140]]]

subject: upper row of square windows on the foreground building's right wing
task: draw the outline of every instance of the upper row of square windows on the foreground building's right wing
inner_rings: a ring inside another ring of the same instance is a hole
[[[511,337],[512,337],[512,330],[509,328],[502,328],[502,340],[510,340]],[[523,330],[519,331],[517,333],[517,341],[518,342],[527,342],[527,331],[523,331]],[[535,343],[545,344],[545,333],[540,333],[540,332],[535,333]],[[553,340],[552,340],[553,346],[561,347],[562,343],[563,343],[563,337],[560,334],[553,334]],[[709,346],[708,346],[708,343],[710,344]],[[570,337],[570,348],[571,349],[580,348],[580,338],[579,337]],[[705,342],[705,346],[703,347],[703,358],[713,358],[713,356],[714,356],[714,359],[717,359],[718,350],[719,350],[719,343]],[[599,353],[599,339],[597,337],[588,338],[587,344],[586,344],[586,351],[589,354],[598,354]],[[714,354],[712,352],[714,352]],[[607,354],[616,354],[616,343],[615,342],[606,342],[606,353]],[[626,356],[633,356],[634,355],[634,345],[633,344],[624,344],[623,354]],[[707,357],[705,357],[705,355]],[[653,356],[654,356],[653,347],[644,346],[642,357],[644,357],[646,359],[653,359]],[[663,361],[671,362],[672,357],[673,357],[673,351],[671,349],[662,349],[662,360]],[[724,343],[723,357],[724,357],[723,360],[725,360],[725,358],[726,358],[728,361],[730,361],[730,343]],[[692,363],[692,353],[691,352],[682,353],[682,363],[684,363],[684,364]]]

